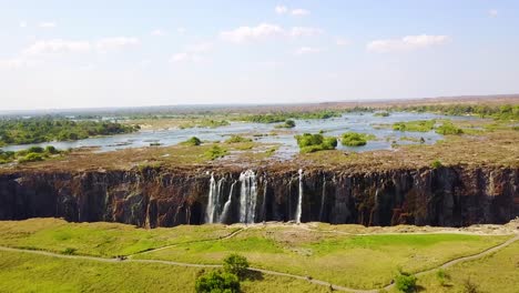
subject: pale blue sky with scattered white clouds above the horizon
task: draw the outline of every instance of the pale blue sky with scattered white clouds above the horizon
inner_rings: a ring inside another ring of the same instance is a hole
[[[519,93],[517,0],[0,0],[0,110]]]

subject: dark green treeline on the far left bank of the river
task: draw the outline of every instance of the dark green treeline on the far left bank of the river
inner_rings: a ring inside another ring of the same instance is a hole
[[[73,121],[55,118],[0,120],[0,145],[74,141],[138,130],[138,125],[124,125],[110,121]]]

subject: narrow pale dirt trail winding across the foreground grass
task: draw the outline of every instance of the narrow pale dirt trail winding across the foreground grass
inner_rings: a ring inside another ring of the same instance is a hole
[[[230,238],[233,238],[234,235],[236,235],[237,233],[242,232],[244,229],[241,229],[241,230],[237,230],[224,238],[221,238],[221,239],[230,239]],[[436,270],[438,269],[446,269],[446,267],[449,267],[449,266],[452,266],[455,264],[458,264],[460,262],[465,262],[465,261],[472,261],[472,260],[477,260],[477,259],[480,259],[480,257],[484,257],[486,255],[489,255],[493,252],[497,252],[501,249],[505,249],[506,246],[512,244],[513,242],[518,241],[519,240],[519,234],[517,234],[516,236],[507,240],[506,242],[501,243],[501,244],[498,244],[496,246],[492,246],[492,247],[489,247],[482,252],[479,252],[477,254],[472,254],[472,255],[469,255],[469,256],[461,256],[461,257],[458,257],[458,259],[455,259],[455,260],[450,260],[439,266],[436,266],[436,267],[432,267],[432,269],[428,269],[428,270],[425,270],[425,271],[421,271],[421,272],[418,272],[418,273],[415,273],[416,276],[419,276],[419,275],[424,275],[424,274],[427,274],[427,273],[430,273],[430,272],[435,272]],[[213,240],[214,241],[214,240]],[[173,245],[170,245],[170,247],[173,246]],[[161,247],[161,249],[165,249],[165,247]],[[157,251],[160,249],[156,249],[156,250],[153,250],[153,251]],[[187,267],[222,267],[222,265],[218,265],[218,264],[196,264],[196,263],[183,263],[183,262],[173,262],[173,261],[161,261],[161,260],[135,260],[135,259],[125,259],[125,260],[121,260],[121,259],[106,259],[106,257],[99,257],[99,256],[86,256],[86,255],[65,255],[65,254],[60,254],[60,253],[54,253],[54,252],[48,252],[48,251],[35,251],[35,250],[26,250],[26,249],[13,249],[13,247],[6,247],[6,246],[0,246],[0,251],[7,251],[7,252],[20,252],[20,253],[31,253],[31,254],[38,254],[38,255],[44,255],[44,256],[51,256],[51,257],[58,257],[58,259],[68,259],[68,260],[86,260],[86,261],[96,261],[96,262],[103,262],[103,263],[129,263],[129,262],[133,262],[133,263],[159,263],[159,264],[166,264],[166,265],[177,265],[177,266],[187,266]],[[150,252],[150,251],[147,251]],[[282,273],[282,272],[276,272],[276,271],[271,271],[271,270],[264,270],[264,269],[257,269],[257,267],[250,267],[248,269],[250,271],[254,271],[254,272],[260,272],[260,273],[263,273],[263,274],[269,274],[269,275],[278,275],[278,276],[286,276],[286,277],[293,277],[293,279],[297,279],[297,280],[304,280],[304,281],[307,281],[309,283],[313,283],[313,284],[317,284],[317,285],[323,285],[323,286],[327,286],[327,287],[330,287],[333,290],[336,290],[336,291],[343,291],[343,292],[353,292],[353,293],[375,293],[375,292],[379,292],[380,289],[373,289],[373,290],[358,290],[358,289],[352,289],[352,287],[346,287],[346,286],[340,286],[340,285],[336,285],[336,284],[332,284],[329,282],[326,282],[326,281],[322,281],[322,280],[316,280],[316,279],[312,279],[312,277],[308,277],[308,276],[303,276],[303,275],[296,275],[296,274],[289,274],[289,273]],[[394,286],[395,284],[389,284],[389,285],[386,285],[384,287],[384,290],[389,290]]]

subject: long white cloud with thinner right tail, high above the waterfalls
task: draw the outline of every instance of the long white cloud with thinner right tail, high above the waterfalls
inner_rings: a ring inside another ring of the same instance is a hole
[[[240,27],[235,30],[223,31],[220,37],[230,42],[244,43],[274,37],[302,38],[320,33],[323,33],[323,30],[316,28],[293,27],[292,29],[284,29],[277,24],[261,23],[257,27]]]

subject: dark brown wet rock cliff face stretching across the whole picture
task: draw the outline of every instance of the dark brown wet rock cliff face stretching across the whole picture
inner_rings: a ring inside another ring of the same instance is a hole
[[[207,211],[211,173],[218,185]],[[251,209],[254,222],[296,219],[297,170],[255,170],[256,184],[246,188],[240,179],[241,171],[217,169],[2,174],[0,220],[57,216],[155,228],[202,224],[208,212],[213,222],[235,223],[244,212],[251,219]],[[312,169],[302,183],[302,222],[464,226],[519,216],[518,169]]]

